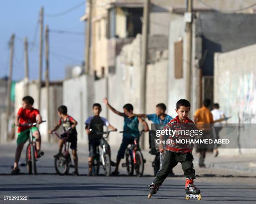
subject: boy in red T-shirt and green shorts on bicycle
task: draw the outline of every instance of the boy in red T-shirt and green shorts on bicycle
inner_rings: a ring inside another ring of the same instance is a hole
[[[15,152],[15,161],[13,165],[13,171],[11,174],[18,174],[20,169],[18,168],[18,162],[20,159],[20,154],[22,152],[23,146],[30,136],[29,126],[20,126],[20,124],[25,123],[35,123],[38,124],[42,122],[42,118],[37,109],[33,108],[34,99],[31,96],[25,96],[22,98],[22,107],[18,110],[17,116],[15,118],[15,126],[18,126],[18,138],[17,138],[17,148]],[[36,149],[37,157],[44,155],[41,151],[41,136],[38,127],[32,127],[32,134],[36,138]]]

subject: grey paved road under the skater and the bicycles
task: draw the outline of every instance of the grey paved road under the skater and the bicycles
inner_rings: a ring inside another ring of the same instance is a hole
[[[38,161],[38,175],[26,174],[26,167],[21,167],[23,174],[9,175],[13,163],[13,145],[0,145],[0,204],[183,204],[199,202],[203,204],[253,204],[256,203],[256,179],[250,175],[231,174],[232,171],[198,169],[195,184],[202,191],[202,200],[185,200],[184,178],[180,166],[174,169],[177,176],[168,178],[157,195],[147,199],[146,185],[150,184],[152,167],[149,155],[145,176],[126,176],[121,167],[120,176],[87,177],[87,147],[79,147],[80,176],[56,175],[52,155],[56,145],[45,148],[45,156]],[[23,155],[25,153],[23,152]],[[113,151],[115,155],[115,151]],[[24,158],[24,156],[23,156]],[[21,159],[23,161],[23,159]],[[195,165],[197,166],[197,165]],[[214,171],[214,172],[213,172]],[[28,201],[4,201],[3,196],[28,196]]]

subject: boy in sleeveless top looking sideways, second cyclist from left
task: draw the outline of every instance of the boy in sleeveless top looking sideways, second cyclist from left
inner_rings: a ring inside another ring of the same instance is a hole
[[[67,106],[63,106],[63,105],[59,106],[58,114],[60,117],[59,122],[52,130],[49,131],[49,133],[53,133],[54,131],[59,129],[60,126],[62,126],[64,133],[61,134],[61,137],[66,138],[67,137],[67,129],[69,127],[71,127],[71,129],[69,130],[69,137],[68,137],[67,141],[70,142],[70,149],[72,149],[72,155],[73,155],[73,159],[74,159],[75,171],[73,172],[73,174],[75,176],[78,176],[79,174],[78,174],[77,130],[76,130],[77,121],[75,121],[74,118],[72,118],[71,116],[69,116],[67,114]],[[62,139],[59,140],[59,153],[54,155],[54,157],[59,156],[61,154],[63,144],[64,144],[64,140],[62,140]]]

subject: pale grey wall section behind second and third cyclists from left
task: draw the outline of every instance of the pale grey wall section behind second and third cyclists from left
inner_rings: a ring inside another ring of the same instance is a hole
[[[77,122],[79,143],[87,143],[84,121],[92,116],[94,85],[93,77],[82,75],[63,82],[63,105],[67,106],[68,114]]]

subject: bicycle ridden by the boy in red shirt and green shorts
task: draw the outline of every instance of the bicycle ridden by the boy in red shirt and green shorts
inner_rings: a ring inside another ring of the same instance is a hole
[[[42,121],[41,123],[44,123],[46,121]],[[30,134],[29,134],[29,139],[28,139],[28,146],[26,149],[26,165],[27,165],[27,169],[28,169],[28,174],[33,174],[36,175],[37,174],[37,170],[36,170],[36,161],[38,159],[38,155],[37,155],[37,150],[36,150],[36,142],[33,140],[33,133],[31,128],[33,126],[39,125],[38,123],[24,123],[24,124],[20,124],[20,126],[28,126],[30,127]]]

